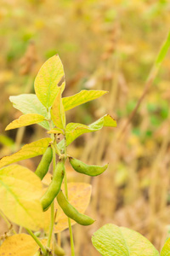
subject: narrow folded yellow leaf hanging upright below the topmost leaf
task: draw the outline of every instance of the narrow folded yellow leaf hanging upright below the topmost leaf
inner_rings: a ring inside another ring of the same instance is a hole
[[[63,107],[63,103],[61,100],[61,93],[62,93],[61,90],[62,90],[62,85],[59,88],[59,92],[51,108],[51,118],[54,121],[54,125],[64,130],[65,129],[65,109]]]

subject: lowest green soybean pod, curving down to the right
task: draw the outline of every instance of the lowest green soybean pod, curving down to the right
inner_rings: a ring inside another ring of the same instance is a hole
[[[61,207],[63,212],[65,212],[65,215],[74,219],[78,224],[86,226],[94,223],[93,218],[78,212],[75,207],[71,206],[70,202],[65,198],[62,190],[60,190],[57,195],[57,201],[59,203],[59,207]]]

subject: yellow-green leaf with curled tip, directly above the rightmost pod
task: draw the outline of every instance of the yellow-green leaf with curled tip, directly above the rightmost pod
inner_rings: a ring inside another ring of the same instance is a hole
[[[83,133],[99,131],[104,126],[116,127],[116,120],[113,119],[111,115],[105,114],[91,125],[69,123],[65,128],[67,146]]]

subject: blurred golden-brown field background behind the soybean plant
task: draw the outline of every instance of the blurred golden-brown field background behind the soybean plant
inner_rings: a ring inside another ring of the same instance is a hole
[[[170,24],[167,0],[1,0],[0,157],[24,143],[46,137],[38,125],[5,132],[20,112],[8,97],[34,93],[42,63],[58,53],[65,68],[64,96],[79,90],[109,94],[67,113],[68,122],[90,124],[105,113],[117,121],[78,138],[68,153],[88,164],[110,163],[99,177],[67,168],[69,180],[92,183],[87,214],[97,221],[75,225],[76,252],[97,256],[91,236],[103,224],[126,226],[146,236],[158,250],[170,224],[170,53],[129,125],[150,69]],[[35,171],[40,158],[22,161]],[[5,231],[0,221],[0,235]],[[61,234],[70,255],[69,232]]]

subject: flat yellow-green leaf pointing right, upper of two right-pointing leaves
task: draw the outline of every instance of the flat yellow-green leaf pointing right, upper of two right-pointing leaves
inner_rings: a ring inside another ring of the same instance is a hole
[[[83,103],[93,101],[103,96],[106,90],[81,90],[77,94],[62,99],[65,111],[75,108]]]

